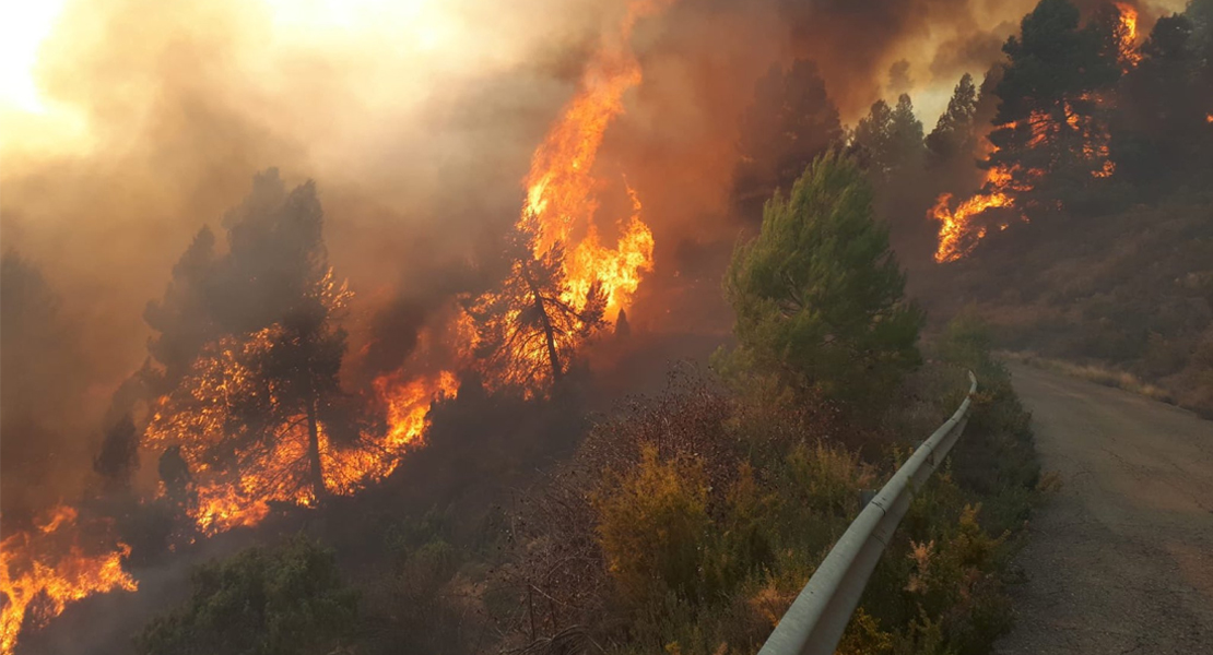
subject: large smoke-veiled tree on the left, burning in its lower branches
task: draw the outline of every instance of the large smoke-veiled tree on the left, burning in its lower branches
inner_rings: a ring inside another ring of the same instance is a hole
[[[336,322],[351,293],[328,264],[323,216],[313,183],[287,193],[277,171],[257,176],[224,217],[228,252],[216,255],[204,229],[148,309],[169,391],[147,436],[178,446],[198,475],[204,528],[260,518],[268,500],[315,501],[357,477],[338,448],[358,427],[337,378]]]

